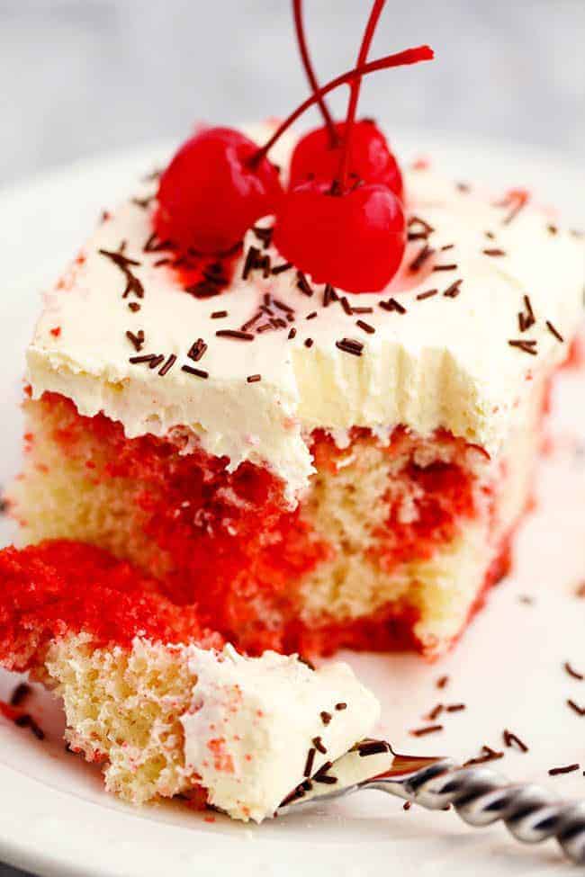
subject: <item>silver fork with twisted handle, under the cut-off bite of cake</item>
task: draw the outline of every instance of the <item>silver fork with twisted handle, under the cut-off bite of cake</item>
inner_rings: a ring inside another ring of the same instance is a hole
[[[372,751],[373,743],[379,744],[377,752]],[[321,768],[298,786],[278,812],[376,789],[426,810],[452,805],[464,822],[476,828],[501,819],[524,844],[554,837],[572,862],[585,864],[585,801],[562,801],[538,785],[509,783],[482,765],[461,767],[451,758],[403,756],[394,753],[389,744],[382,751],[383,745],[383,741],[368,741],[365,749],[369,747],[370,757],[360,756],[359,747],[355,747],[332,765],[325,765],[325,770]],[[380,767],[386,769],[379,771]]]

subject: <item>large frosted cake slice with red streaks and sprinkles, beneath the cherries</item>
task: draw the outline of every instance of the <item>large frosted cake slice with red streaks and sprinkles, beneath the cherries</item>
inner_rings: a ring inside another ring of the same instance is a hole
[[[508,568],[583,245],[524,192],[405,190],[383,293],[313,282],[271,218],[179,253],[156,182],[108,214],[27,352],[23,539],[129,559],[250,654],[449,649]]]

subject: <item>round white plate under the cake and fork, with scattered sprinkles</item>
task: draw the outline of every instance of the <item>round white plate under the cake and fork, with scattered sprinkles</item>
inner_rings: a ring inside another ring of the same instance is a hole
[[[449,144],[422,134],[400,140],[403,154],[437,157],[456,179],[535,187],[572,222],[585,224],[585,180],[576,168],[526,148]],[[4,483],[20,457],[23,348],[38,292],[83,241],[100,210],[165,155],[165,148],[133,150],[69,167],[0,198]],[[530,752],[507,749],[497,765],[502,771],[583,797],[585,718],[565,700],[585,705],[585,681],[568,676],[563,662],[585,671],[585,600],[574,595],[585,577],[584,399],[585,379],[565,373],[554,400],[555,451],[536,485],[536,514],[520,533],[515,573],[492,593],[455,652],[431,666],[410,656],[348,656],[383,701],[380,733],[402,751],[465,759],[483,743],[501,748],[502,729],[509,728],[526,739]],[[0,535],[10,539],[10,524],[2,527]],[[523,602],[522,595],[534,604]],[[439,692],[436,681],[443,674],[450,682]],[[0,675],[0,698],[13,685],[14,677]],[[221,817],[206,822],[178,804],[133,810],[103,792],[97,769],[65,754],[58,708],[47,694],[35,696],[31,711],[47,730],[44,742],[0,719],[0,858],[35,873],[205,877],[234,869],[238,877],[288,877],[302,869],[307,877],[472,872],[481,877],[564,871],[552,843],[525,849],[499,826],[478,832],[454,813],[404,812],[400,801],[381,794],[364,793],[260,827]],[[465,702],[467,709],[449,715],[442,733],[411,737],[409,729],[423,724],[423,714],[438,700]],[[581,770],[547,776],[549,767],[571,762],[580,762]]]

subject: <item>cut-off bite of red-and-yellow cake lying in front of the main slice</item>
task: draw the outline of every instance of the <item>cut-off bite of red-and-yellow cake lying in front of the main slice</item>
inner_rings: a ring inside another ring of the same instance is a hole
[[[69,748],[127,801],[182,795],[260,822],[377,720],[346,664],[244,657],[92,546],[5,549],[0,583],[0,664],[63,699]]]

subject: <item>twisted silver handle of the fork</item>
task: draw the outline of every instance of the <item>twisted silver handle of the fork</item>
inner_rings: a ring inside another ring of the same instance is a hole
[[[524,844],[554,837],[572,862],[585,864],[585,801],[561,801],[538,785],[509,783],[488,767],[458,767],[445,759],[402,782],[370,788],[399,795],[427,810],[453,805],[461,819],[482,827],[502,820]]]

